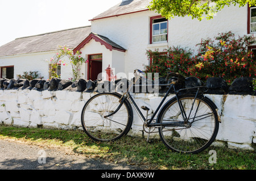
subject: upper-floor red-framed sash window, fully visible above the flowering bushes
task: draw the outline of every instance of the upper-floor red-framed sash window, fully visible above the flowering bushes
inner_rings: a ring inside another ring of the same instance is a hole
[[[168,20],[162,16],[150,18],[150,44],[168,40]]]

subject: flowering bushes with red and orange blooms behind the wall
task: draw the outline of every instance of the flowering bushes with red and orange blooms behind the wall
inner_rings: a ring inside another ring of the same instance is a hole
[[[166,77],[168,70],[202,81],[208,77],[222,77],[228,83],[237,77],[256,78],[255,58],[247,48],[254,43],[253,36],[236,38],[232,32],[219,33],[214,40],[201,40],[197,54],[180,47],[168,48],[164,53],[147,50],[152,64],[144,68],[146,73],[159,73],[159,77]]]

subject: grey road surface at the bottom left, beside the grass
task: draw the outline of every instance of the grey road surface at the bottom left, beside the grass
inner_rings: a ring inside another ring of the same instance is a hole
[[[0,140],[0,170],[134,170],[129,165],[86,158],[60,148]]]

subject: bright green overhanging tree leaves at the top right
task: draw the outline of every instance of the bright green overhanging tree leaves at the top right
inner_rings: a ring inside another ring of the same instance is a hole
[[[256,0],[152,0],[148,8],[156,11],[167,19],[175,16],[191,16],[192,19],[212,19],[214,13],[225,6],[239,5],[240,7],[256,6]]]

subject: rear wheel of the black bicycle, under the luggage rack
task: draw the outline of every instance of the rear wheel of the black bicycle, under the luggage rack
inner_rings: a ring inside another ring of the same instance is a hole
[[[165,124],[159,128],[160,138],[173,151],[199,153],[217,136],[216,110],[203,96],[195,99],[195,95],[182,95],[179,100],[180,105],[177,99],[170,100],[160,112],[158,121]]]

